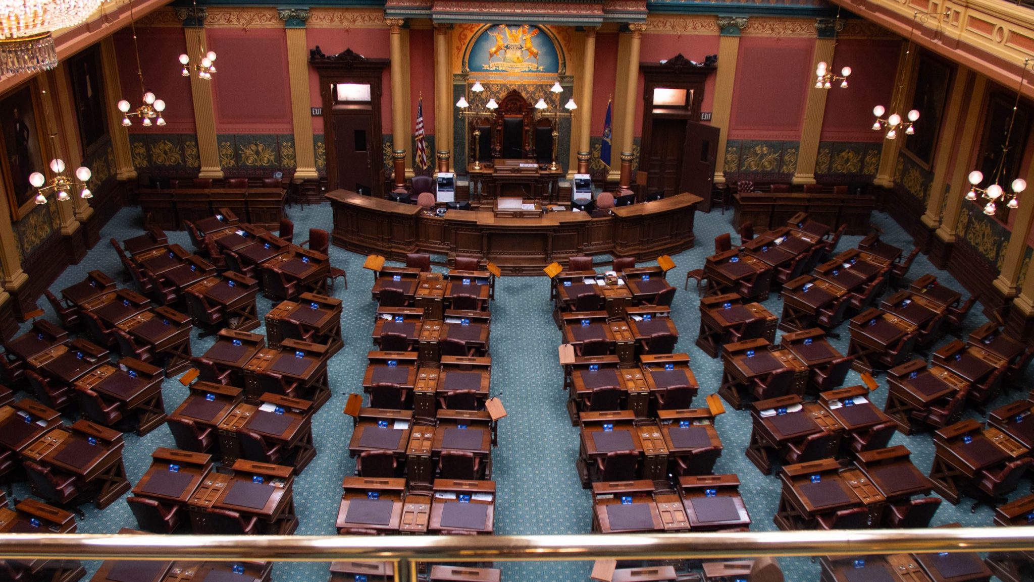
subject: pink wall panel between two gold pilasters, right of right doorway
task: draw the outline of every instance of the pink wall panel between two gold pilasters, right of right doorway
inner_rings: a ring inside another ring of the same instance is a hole
[[[807,92],[814,84],[814,38],[744,36],[739,40],[730,139],[800,139]]]

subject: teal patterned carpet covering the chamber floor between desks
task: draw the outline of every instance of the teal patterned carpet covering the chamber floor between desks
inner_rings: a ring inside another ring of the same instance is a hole
[[[307,239],[309,227],[331,229],[331,215],[328,206],[295,207],[288,212],[296,224],[297,241]],[[712,252],[712,239],[731,231],[732,213],[724,215],[714,211],[697,214],[697,246],[675,255],[677,267],[669,273],[669,281],[678,286],[672,316],[681,334],[676,351],[689,353],[691,366],[700,381],[702,405],[704,396],[718,390],[722,366],[721,360],[710,359],[694,345],[699,329],[698,298],[691,285],[682,290],[682,282],[688,270],[703,266],[704,257]],[[909,249],[911,239],[886,215],[874,214],[873,221],[885,231],[883,239]],[[125,208],[104,227],[101,243],[89,251],[86,258],[69,267],[51,286],[58,294],[60,289],[82,280],[86,273],[99,269],[110,274],[121,271],[115,251],[108,244],[110,238],[119,241],[138,235],[142,227],[140,209]],[[171,242],[178,242],[191,248],[183,232],[169,233]],[[734,240],[736,236],[734,235]],[[854,247],[860,237],[844,237],[840,249]],[[295,498],[300,525],[299,534],[333,534],[334,517],[341,494],[341,479],[353,474],[355,462],[348,457],[347,443],[352,434],[352,422],[342,413],[345,394],[360,392],[365,369],[367,350],[372,348],[370,335],[373,327],[375,304],[370,300],[372,276],[362,269],[364,257],[332,247],[335,266],[348,273],[351,287],[338,284],[335,297],[344,302],[342,328],[344,348],[330,363],[330,385],[334,396],[315,415],[312,423],[314,440],[318,454],[313,462],[295,482]],[[609,257],[597,257],[600,270],[609,266]],[[939,272],[920,255],[909,273],[909,279],[924,273],[935,273],[943,284],[959,290],[962,286],[947,273]],[[968,294],[964,294],[968,297]],[[776,314],[782,312],[781,300],[776,294],[765,306]],[[47,317],[57,321],[57,317],[47,309]],[[260,314],[265,314],[271,302],[258,298]],[[578,430],[571,426],[565,409],[567,394],[561,390],[561,371],[557,364],[556,346],[560,343],[560,333],[550,315],[549,281],[539,277],[504,277],[497,283],[496,299],[491,304],[492,312],[492,394],[499,394],[509,417],[499,424],[499,446],[493,451],[494,479],[497,487],[495,507],[495,532],[498,534],[556,534],[588,533],[590,529],[589,493],[581,489],[575,470],[578,455]],[[983,321],[979,306],[967,320],[968,328],[975,328]],[[28,326],[23,326],[25,331]],[[834,345],[847,351],[847,324],[842,331],[843,339]],[[264,329],[255,330],[265,333]],[[209,337],[193,340],[194,354],[203,354],[214,341]],[[944,342],[948,339],[943,340]],[[882,406],[886,398],[886,381],[878,378],[881,388],[874,393],[874,401]],[[1029,380],[1029,378],[1027,378]],[[851,372],[847,386],[860,384],[857,373]],[[1024,382],[1029,386],[1028,382]],[[175,381],[164,382],[166,411],[173,410],[186,398],[187,391]],[[1017,397],[1013,391],[999,402],[1001,404]],[[973,416],[973,413],[970,413]],[[973,416],[979,420],[978,416]],[[68,418],[66,422],[74,419]],[[742,486],[740,492],[754,524],[753,530],[773,530],[772,515],[779,502],[780,482],[776,476],[762,476],[747,459],[747,449],[751,432],[748,411],[730,408],[719,417],[717,428],[724,445],[724,454],[719,459],[716,472],[738,473]],[[158,447],[175,447],[172,434],[162,426],[147,436],[125,435],[125,464],[130,481],[135,484],[150,464],[150,454]],[[934,456],[932,436],[918,434],[906,437],[896,434],[892,445],[906,445],[912,451],[913,462],[921,470],[927,471]],[[1014,496],[1023,494],[1026,483]],[[30,495],[24,483],[14,486],[14,494],[20,498]],[[135,521],[124,499],[120,499],[100,512],[92,506],[84,506],[87,517],[79,524],[81,532],[115,532],[121,527],[135,527]],[[959,507],[943,503],[935,518],[934,525],[959,522],[964,525],[991,525],[992,510],[983,507],[976,514],[970,514],[969,503],[964,500]],[[262,555],[251,556],[263,559]],[[818,580],[818,565],[807,559],[784,560],[787,580]],[[531,580],[587,580],[591,564],[588,562],[523,562],[500,563],[503,579],[508,582]],[[274,569],[274,580],[280,582],[318,581],[327,578],[327,564],[278,563]],[[93,569],[91,568],[91,574]]]

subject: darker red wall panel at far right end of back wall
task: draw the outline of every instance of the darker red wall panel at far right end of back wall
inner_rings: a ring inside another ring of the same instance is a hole
[[[826,96],[822,120],[823,142],[881,142],[883,133],[872,129],[873,108],[890,105],[898,68],[900,40],[846,39],[837,43],[832,69],[851,67],[847,89],[834,85]],[[814,82],[814,79],[813,79]]]

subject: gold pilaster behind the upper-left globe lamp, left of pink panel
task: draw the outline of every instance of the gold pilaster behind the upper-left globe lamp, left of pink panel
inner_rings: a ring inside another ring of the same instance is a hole
[[[204,44],[205,40],[205,19],[208,13],[204,7],[196,8],[197,19],[193,18],[193,10],[182,8],[178,10],[178,16],[183,20],[183,33],[186,36],[187,55],[191,62],[201,58],[197,48]],[[219,73],[216,73],[219,74]],[[306,80],[306,87],[308,81]],[[190,74],[190,96],[193,99],[194,108],[194,128],[197,132],[197,154],[201,157],[201,172],[199,178],[222,178],[222,167],[219,166],[219,143],[215,136],[215,109],[212,103],[212,82],[197,76],[196,72]]]

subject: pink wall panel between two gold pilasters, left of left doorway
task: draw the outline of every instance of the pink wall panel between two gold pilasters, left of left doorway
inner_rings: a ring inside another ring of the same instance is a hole
[[[283,29],[208,30],[217,133],[291,133],[291,83]]]

